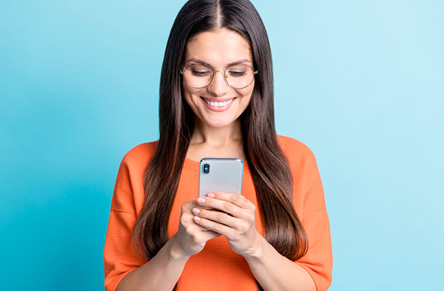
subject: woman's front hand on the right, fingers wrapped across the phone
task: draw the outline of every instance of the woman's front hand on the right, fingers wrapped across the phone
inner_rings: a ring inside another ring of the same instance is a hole
[[[206,197],[199,197],[197,202],[204,207],[192,210],[194,222],[225,235],[237,254],[257,256],[262,251],[262,236],[256,230],[256,206],[253,202],[242,195],[227,192],[208,193]]]

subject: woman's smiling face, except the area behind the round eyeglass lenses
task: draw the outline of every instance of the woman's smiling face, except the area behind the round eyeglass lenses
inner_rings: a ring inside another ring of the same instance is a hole
[[[250,45],[244,37],[232,30],[222,28],[199,33],[187,43],[182,71],[191,64],[201,63],[209,64],[218,71],[214,73],[211,84],[202,89],[190,87],[182,78],[185,100],[196,117],[210,127],[230,125],[250,103],[255,81],[243,89],[234,89],[225,82],[223,72],[220,72],[229,64],[239,61],[253,68]]]

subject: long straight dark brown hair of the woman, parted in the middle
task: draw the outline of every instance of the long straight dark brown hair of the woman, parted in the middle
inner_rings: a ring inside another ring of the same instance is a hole
[[[145,202],[135,224],[133,245],[139,255],[152,258],[168,241],[169,215],[194,130],[194,113],[182,99],[180,65],[187,41],[215,28],[239,33],[253,51],[254,67],[259,74],[250,105],[239,117],[244,152],[255,184],[265,238],[282,256],[296,260],[307,252],[307,236],[293,208],[291,170],[275,132],[268,36],[248,0],[191,0],[173,23],[160,78],[160,139],[144,174]]]

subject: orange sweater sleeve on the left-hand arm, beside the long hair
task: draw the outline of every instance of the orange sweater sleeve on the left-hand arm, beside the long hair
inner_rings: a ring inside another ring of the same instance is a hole
[[[112,195],[103,249],[105,291],[114,291],[124,276],[147,262],[137,255],[133,247],[133,229],[137,215],[128,164],[126,157],[123,157]]]

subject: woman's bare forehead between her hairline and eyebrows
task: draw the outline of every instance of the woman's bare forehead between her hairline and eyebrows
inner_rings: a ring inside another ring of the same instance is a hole
[[[185,61],[203,60],[214,66],[247,59],[253,62],[250,44],[239,33],[226,28],[198,33],[187,42]]]

